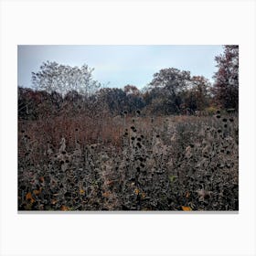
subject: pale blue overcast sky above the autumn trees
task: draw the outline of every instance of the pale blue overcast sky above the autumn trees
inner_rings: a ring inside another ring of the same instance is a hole
[[[204,76],[211,82],[217,71],[214,58],[223,52],[219,45],[95,45],[17,47],[18,86],[31,87],[31,72],[39,71],[47,60],[69,66],[87,64],[94,68],[93,80],[108,87],[123,88],[127,84],[144,88],[160,69],[176,68]]]

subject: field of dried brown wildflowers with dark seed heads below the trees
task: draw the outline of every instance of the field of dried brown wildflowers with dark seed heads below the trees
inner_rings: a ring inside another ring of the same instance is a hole
[[[238,209],[236,114],[18,122],[18,210]]]

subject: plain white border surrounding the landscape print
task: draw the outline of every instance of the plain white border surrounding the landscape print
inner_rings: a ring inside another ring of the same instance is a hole
[[[255,2],[2,1],[2,255],[255,255]],[[239,44],[240,213],[17,214],[16,45]]]

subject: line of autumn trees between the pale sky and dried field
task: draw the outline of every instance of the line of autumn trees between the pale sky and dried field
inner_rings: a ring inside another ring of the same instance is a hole
[[[33,89],[18,87],[18,116],[38,119],[48,115],[97,113],[150,115],[210,114],[216,110],[239,110],[239,46],[224,46],[215,58],[218,71],[211,84],[187,70],[161,69],[143,89],[135,85],[104,88],[92,79],[87,65],[70,67],[45,62],[32,72]]]

